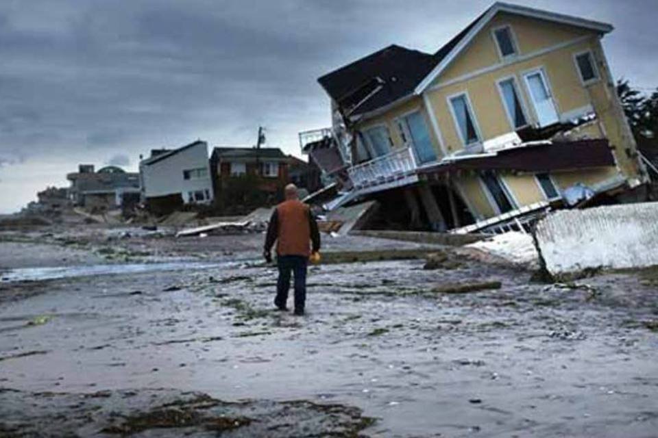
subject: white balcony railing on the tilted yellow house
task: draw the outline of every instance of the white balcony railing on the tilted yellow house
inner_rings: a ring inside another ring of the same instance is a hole
[[[405,148],[348,168],[348,174],[354,188],[359,189],[415,175],[416,168],[413,151]]]

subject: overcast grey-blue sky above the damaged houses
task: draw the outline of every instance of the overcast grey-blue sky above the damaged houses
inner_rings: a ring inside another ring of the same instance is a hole
[[[612,23],[616,77],[658,86],[658,0],[519,2]],[[489,0],[1,0],[0,212],[80,162],[136,170],[197,138],[298,154],[330,124],[317,77],[388,44],[436,51]]]

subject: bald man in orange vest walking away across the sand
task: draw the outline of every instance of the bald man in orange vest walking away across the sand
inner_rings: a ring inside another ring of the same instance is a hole
[[[279,310],[288,309],[286,302],[292,272],[295,275],[295,315],[304,315],[306,266],[311,249],[313,253],[320,249],[320,233],[310,208],[300,201],[297,186],[287,185],[285,196],[286,201],[276,206],[269,220],[263,256],[267,261],[271,261],[271,249],[276,241],[279,279],[274,305]]]

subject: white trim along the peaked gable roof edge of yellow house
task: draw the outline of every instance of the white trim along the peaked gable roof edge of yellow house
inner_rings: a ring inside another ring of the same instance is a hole
[[[563,14],[556,14],[555,12],[548,12],[543,10],[538,10],[534,8],[527,8],[526,6],[520,5],[511,5],[509,3],[494,3],[489,10],[483,15],[482,18],[478,21],[474,27],[468,31],[466,36],[462,38],[455,47],[452,48],[450,53],[439,62],[435,68],[432,68],[432,71],[416,86],[414,94],[421,94],[430,83],[434,81],[442,72],[446,69],[448,65],[465,49],[465,47],[470,44],[470,42],[475,38],[477,34],[491,21],[491,19],[498,14],[498,12],[509,12],[510,14],[517,14],[522,16],[528,16],[531,18],[539,18],[541,20],[555,21],[556,23],[564,23],[568,25],[585,27],[587,29],[592,29],[598,31],[602,34],[607,34],[612,31],[613,27],[607,23],[600,23],[596,21],[585,20],[584,18],[578,18],[575,16],[568,16]]]

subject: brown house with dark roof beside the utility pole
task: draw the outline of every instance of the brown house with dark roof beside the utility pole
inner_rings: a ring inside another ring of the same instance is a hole
[[[274,193],[288,183],[288,157],[278,148],[217,147],[210,155],[215,190],[232,177],[251,175],[262,178],[258,187]]]

